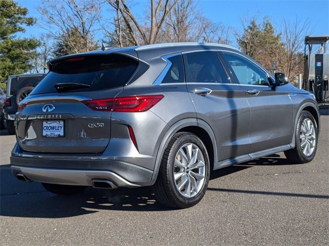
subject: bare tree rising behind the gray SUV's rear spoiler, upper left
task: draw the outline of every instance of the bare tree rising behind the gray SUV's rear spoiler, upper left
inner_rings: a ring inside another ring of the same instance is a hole
[[[68,46],[70,52],[78,53],[96,48],[100,8],[97,0],[43,0],[38,11],[49,35]]]

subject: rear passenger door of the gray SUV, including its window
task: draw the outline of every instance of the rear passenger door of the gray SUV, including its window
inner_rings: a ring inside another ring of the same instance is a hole
[[[217,160],[248,155],[250,109],[244,88],[232,84],[214,51],[184,53],[186,81],[198,119],[212,128]],[[214,166],[216,167],[216,164]]]

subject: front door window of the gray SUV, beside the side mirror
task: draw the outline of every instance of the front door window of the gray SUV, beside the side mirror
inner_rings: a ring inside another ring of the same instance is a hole
[[[269,85],[266,73],[241,55],[223,52],[237,80],[244,85]]]

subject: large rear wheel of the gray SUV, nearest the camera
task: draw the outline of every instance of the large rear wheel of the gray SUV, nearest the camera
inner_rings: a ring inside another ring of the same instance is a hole
[[[192,207],[205,195],[209,175],[209,156],[202,140],[193,133],[176,133],[153,186],[156,200],[173,208]]]

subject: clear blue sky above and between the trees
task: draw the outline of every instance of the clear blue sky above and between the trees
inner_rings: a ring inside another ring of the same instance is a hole
[[[37,19],[40,17],[40,14],[36,11],[36,7],[40,5],[40,0],[16,0],[16,2],[28,8],[29,16],[36,17]],[[144,6],[149,1],[139,0],[135,2],[138,4],[133,9],[134,14],[142,15],[144,13]],[[309,20],[310,28],[308,34],[329,34],[329,0],[199,0],[198,2],[203,15],[207,18],[213,22],[220,22],[238,30],[241,29],[241,17],[256,15],[260,20],[264,16],[268,16],[275,26],[279,26],[283,19],[293,21],[298,17],[301,22]],[[110,16],[106,8],[104,8],[103,14],[107,14],[108,17]],[[39,37],[40,34],[45,32],[40,26],[36,25],[28,27],[26,32],[19,34],[19,36]]]

